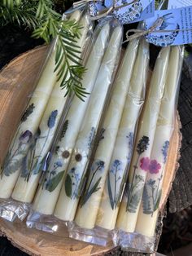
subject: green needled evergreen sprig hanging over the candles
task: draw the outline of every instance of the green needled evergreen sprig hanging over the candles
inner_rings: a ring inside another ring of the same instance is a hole
[[[76,39],[81,36],[81,26],[75,20],[63,20],[54,9],[52,0],[0,0],[2,25],[17,23],[33,29],[33,38],[43,38],[46,43],[55,38],[55,72],[66,95],[75,93],[83,100],[87,94],[81,83],[85,68],[81,64],[81,51]]]

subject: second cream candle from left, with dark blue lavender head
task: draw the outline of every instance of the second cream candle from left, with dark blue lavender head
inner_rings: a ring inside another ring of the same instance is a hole
[[[82,28],[81,38],[76,42],[76,45],[80,47],[79,51],[82,51],[83,49],[89,24],[89,15],[85,15],[80,21]],[[78,55],[80,56],[81,54]],[[72,65],[72,61],[69,61],[69,64]],[[66,81],[68,78],[69,74]],[[62,79],[63,77],[61,80]],[[56,82],[54,89],[51,92],[45,113],[43,114],[39,125],[39,135],[28,150],[28,155],[25,160],[26,168],[21,170],[20,177],[15,184],[14,191],[12,192],[12,198],[17,201],[24,201],[28,203],[33,201],[33,196],[36,192],[41,175],[43,159],[46,157],[46,154],[50,149],[50,145],[53,142],[55,132],[57,130],[59,120],[62,117],[63,109],[67,100],[67,97],[64,97],[67,90],[60,87],[61,80]]]

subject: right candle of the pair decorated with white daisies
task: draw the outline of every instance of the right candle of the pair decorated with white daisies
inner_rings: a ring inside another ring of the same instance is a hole
[[[116,27],[111,34],[107,51],[103,57],[85,119],[76,140],[67,176],[64,179],[63,188],[55,207],[55,216],[63,220],[72,220],[76,214],[81,188],[85,179],[86,166],[94,142],[94,135],[98,130],[98,124],[108,95],[107,92],[116,70],[121,38],[122,29],[121,27]]]

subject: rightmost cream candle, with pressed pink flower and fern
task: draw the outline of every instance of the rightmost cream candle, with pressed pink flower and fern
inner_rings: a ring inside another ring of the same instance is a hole
[[[181,69],[181,51],[179,46],[172,46],[168,63],[168,77],[161,102],[159,120],[155,131],[154,145],[151,152],[146,184],[142,195],[142,205],[137,217],[135,231],[144,236],[154,236],[159,201],[163,184],[169,141],[174,129],[177,93]]]

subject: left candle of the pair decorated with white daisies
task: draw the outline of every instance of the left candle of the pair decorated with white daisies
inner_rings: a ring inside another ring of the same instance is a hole
[[[83,77],[82,85],[86,91],[91,93],[97,78],[98,69],[103,59],[104,50],[107,46],[110,26],[105,24],[98,34],[93,49],[89,54],[85,68],[87,71]],[[90,78],[91,77],[91,78]],[[81,123],[85,116],[85,110],[89,103],[90,95],[87,95],[85,102],[77,97],[72,100],[66,121],[63,126],[62,136],[57,143],[56,150],[51,157],[50,166],[46,172],[44,182],[41,184],[33,204],[33,210],[41,214],[53,214],[57,202],[60,188],[63,183],[63,174],[68,168],[72,149],[76,142],[76,137],[81,128]]]

